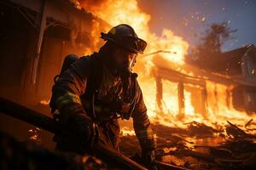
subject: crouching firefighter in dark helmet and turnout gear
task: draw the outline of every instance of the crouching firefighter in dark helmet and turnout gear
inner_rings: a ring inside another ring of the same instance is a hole
[[[131,72],[147,42],[125,24],[101,34],[106,42],[98,53],[79,59],[67,56],[75,61],[56,80],[50,101],[52,112],[60,113],[59,122],[88,145],[80,148],[72,139],[55,136],[56,149],[83,154],[99,142],[119,150],[118,118],[132,118],[143,162],[154,168],[154,136],[137,74]]]

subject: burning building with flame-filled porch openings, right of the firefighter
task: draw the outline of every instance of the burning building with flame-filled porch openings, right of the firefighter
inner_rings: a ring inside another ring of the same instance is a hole
[[[178,119],[194,114],[208,119],[212,113],[225,116],[231,111],[253,114],[256,109],[254,56],[253,45],[226,52],[216,56],[215,71],[206,71],[192,65],[181,67],[171,62],[166,65],[154,54],[152,73],[158,110],[171,111]]]

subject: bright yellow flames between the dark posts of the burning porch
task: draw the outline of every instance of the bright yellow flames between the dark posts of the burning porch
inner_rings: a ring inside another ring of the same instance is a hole
[[[165,88],[164,87],[169,87]],[[237,111],[232,105],[232,98],[230,98],[230,104],[227,104],[227,86],[218,84],[215,82],[207,81],[207,105],[206,113],[201,111],[195,111],[196,100],[200,100],[198,96],[193,96],[195,91],[184,89],[184,119],[180,120],[178,117],[177,99],[177,84],[173,84],[168,81],[163,81],[163,106],[162,111],[165,114],[161,114],[158,117],[158,122],[167,126],[186,127],[183,122],[202,122],[207,126],[224,127],[227,125],[227,121],[233,122],[246,130],[244,125],[253,118],[255,115],[247,115],[246,111]],[[198,88],[200,90],[200,88]],[[193,93],[192,93],[193,92]],[[194,102],[192,100],[195,100]],[[201,102],[201,101],[198,101]],[[169,117],[167,119],[166,117]],[[175,122],[175,123],[173,123]]]

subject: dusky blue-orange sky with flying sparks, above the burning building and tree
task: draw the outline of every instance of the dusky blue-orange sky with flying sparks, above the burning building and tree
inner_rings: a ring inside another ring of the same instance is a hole
[[[151,31],[160,34],[169,28],[190,46],[200,42],[210,24],[224,21],[237,31],[223,51],[256,45],[256,0],[138,0],[138,5],[151,15]]]

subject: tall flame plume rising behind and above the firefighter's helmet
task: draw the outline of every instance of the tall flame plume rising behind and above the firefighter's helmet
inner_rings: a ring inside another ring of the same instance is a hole
[[[175,36],[171,30],[166,28],[163,29],[160,37],[151,32],[148,26],[150,15],[143,13],[138,8],[136,0],[108,0],[102,1],[102,3],[91,3],[90,1],[80,0],[79,2],[82,7],[102,20],[107,21],[111,26],[117,26],[119,24],[132,26],[137,32],[137,35],[148,42],[145,54],[157,50],[171,51],[172,54],[161,54],[162,57],[178,64],[184,63],[184,54],[187,54],[189,48],[188,42],[183,41],[182,37]],[[94,35],[92,36],[95,37],[95,41],[98,41],[100,32],[102,30],[109,30],[109,28],[99,29],[99,26],[94,26],[93,30]]]

